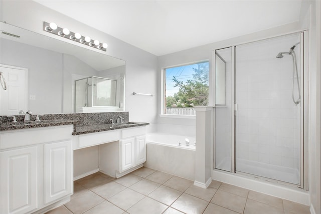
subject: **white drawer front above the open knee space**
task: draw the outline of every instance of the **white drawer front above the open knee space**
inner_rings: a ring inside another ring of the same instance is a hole
[[[83,148],[103,143],[109,143],[117,140],[119,140],[118,131],[93,133],[84,136],[79,136],[78,146],[79,148]]]

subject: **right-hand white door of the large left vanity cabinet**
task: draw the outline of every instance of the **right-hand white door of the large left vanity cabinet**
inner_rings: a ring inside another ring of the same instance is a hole
[[[44,145],[45,204],[72,193],[71,141]]]

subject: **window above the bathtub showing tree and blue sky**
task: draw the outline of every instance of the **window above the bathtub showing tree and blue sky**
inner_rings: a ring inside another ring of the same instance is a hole
[[[207,106],[209,63],[164,69],[163,114],[195,115],[194,106]]]

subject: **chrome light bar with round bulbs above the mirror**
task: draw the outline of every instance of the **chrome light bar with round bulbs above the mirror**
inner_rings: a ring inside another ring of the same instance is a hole
[[[93,48],[97,48],[102,51],[107,51],[107,44],[100,43],[98,40],[92,40],[90,37],[84,37],[79,33],[69,31],[67,28],[60,28],[55,23],[44,22],[44,31],[64,37],[66,39],[79,42],[84,45],[88,45]]]

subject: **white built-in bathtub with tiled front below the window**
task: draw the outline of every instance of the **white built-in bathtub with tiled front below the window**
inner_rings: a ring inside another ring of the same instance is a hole
[[[190,141],[186,145],[186,139]],[[195,178],[195,137],[167,133],[147,134],[145,167],[174,174],[189,180]],[[179,145],[181,142],[181,145]]]

